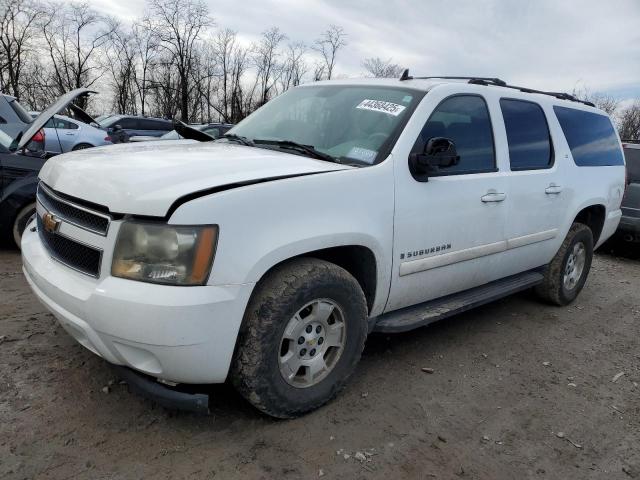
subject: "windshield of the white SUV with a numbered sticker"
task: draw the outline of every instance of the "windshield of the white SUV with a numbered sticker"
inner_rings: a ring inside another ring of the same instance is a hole
[[[424,92],[398,87],[299,87],[273,99],[228,133],[252,141],[287,140],[340,161],[372,165],[384,160],[423,96]]]

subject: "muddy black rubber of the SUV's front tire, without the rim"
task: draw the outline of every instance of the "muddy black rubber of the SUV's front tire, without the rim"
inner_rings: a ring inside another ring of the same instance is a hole
[[[282,335],[291,318],[316,299],[342,311],[346,339],[333,369],[318,383],[298,388],[280,373]],[[354,372],[367,336],[367,304],[360,285],[343,268],[315,258],[276,267],[253,293],[231,367],[231,381],[251,404],[277,418],[293,418],[333,399]]]

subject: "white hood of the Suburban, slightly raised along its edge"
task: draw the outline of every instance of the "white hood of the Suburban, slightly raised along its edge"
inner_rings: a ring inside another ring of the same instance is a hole
[[[225,187],[351,169],[235,143],[166,140],[97,147],[54,157],[40,179],[50,188],[112,213],[164,217],[187,195]]]

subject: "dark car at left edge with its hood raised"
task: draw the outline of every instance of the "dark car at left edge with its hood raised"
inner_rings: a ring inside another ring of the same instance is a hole
[[[89,93],[92,92],[79,88],[62,95],[35,119],[29,116],[29,128],[13,137],[0,130],[0,237],[3,240],[20,247],[22,233],[36,211],[38,173],[52,155],[43,150],[32,150],[33,139],[41,136],[44,140],[45,124],[56,112],[67,107],[75,114],[82,112],[90,119],[71,104],[76,98]]]

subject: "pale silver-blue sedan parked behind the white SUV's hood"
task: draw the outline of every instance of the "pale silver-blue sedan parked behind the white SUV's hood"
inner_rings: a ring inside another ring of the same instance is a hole
[[[38,112],[29,112],[34,118]],[[54,115],[45,125],[47,152],[66,153],[72,150],[111,145],[111,137],[101,128],[64,115]]]

